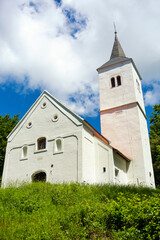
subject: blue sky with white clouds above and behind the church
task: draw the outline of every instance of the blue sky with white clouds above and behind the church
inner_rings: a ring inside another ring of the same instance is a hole
[[[0,114],[22,117],[47,89],[94,122],[96,69],[109,60],[113,22],[150,112],[160,102],[159,0],[0,0]]]

